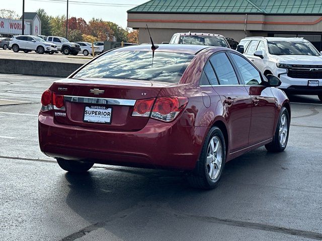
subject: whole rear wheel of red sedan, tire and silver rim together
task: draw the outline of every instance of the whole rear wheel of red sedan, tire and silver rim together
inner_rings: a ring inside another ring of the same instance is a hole
[[[196,170],[188,177],[189,184],[202,189],[215,188],[222,176],[225,161],[225,139],[218,127],[212,127],[202,147]]]

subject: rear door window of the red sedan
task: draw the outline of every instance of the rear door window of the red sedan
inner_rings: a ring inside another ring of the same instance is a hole
[[[225,53],[215,54],[210,58],[219,79],[219,84],[238,84],[236,73]]]

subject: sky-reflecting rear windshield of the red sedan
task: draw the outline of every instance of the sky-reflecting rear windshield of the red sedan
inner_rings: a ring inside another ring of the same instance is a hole
[[[178,83],[193,54],[112,51],[79,70],[74,78],[116,78]]]

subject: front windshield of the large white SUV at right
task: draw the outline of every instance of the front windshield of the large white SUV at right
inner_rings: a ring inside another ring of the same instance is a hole
[[[269,41],[268,52],[273,55],[320,55],[311,43],[299,41]]]

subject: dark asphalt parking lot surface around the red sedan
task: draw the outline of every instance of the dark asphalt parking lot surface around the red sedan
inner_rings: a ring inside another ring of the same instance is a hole
[[[322,240],[317,96],[290,98],[285,152],[240,156],[203,191],[178,172],[60,169],[40,152],[37,130],[40,96],[55,79],[0,74],[0,240]]]

